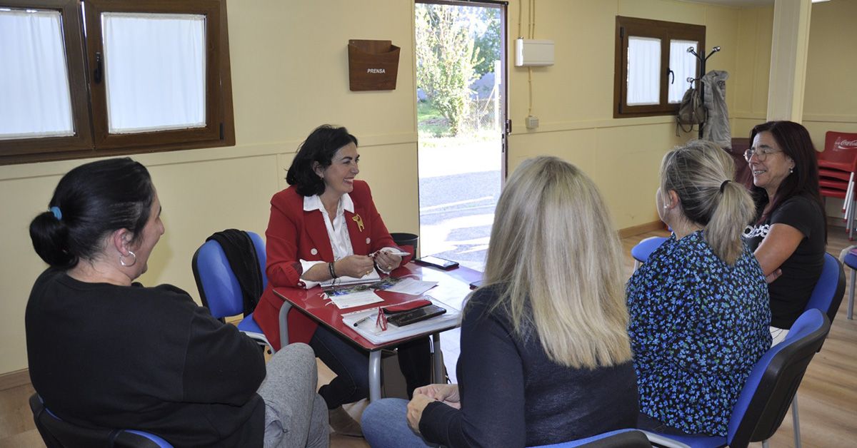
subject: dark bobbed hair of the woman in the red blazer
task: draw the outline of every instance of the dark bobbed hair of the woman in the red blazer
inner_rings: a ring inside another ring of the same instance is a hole
[[[285,182],[294,185],[297,193],[302,196],[324,193],[324,180],[315,174],[313,165],[318,163],[321,168],[327,168],[339,148],[349,143],[357,146],[357,137],[349,134],[346,128],[337,128],[329,124],[322,124],[315,128],[307,140],[303,140],[295,158],[291,160]]]

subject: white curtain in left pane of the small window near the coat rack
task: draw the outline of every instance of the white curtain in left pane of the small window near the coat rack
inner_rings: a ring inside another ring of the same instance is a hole
[[[628,38],[627,105],[656,105],[661,101],[661,39]]]

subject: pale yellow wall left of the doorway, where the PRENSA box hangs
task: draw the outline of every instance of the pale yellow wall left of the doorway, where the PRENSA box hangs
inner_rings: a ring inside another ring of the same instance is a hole
[[[416,233],[417,130],[412,5],[402,0],[256,0],[228,3],[237,145],[135,156],[152,172],[166,233],[143,284],[170,283],[197,296],[190,260],[214,231],[264,234],[268,200],[323,122],[360,140],[361,174],[392,231]],[[402,48],[397,88],[352,93],[349,39],[390,39]],[[24,309],[45,265],[27,229],[47,208],[60,176],[83,160],[0,167],[0,373],[27,367]]]

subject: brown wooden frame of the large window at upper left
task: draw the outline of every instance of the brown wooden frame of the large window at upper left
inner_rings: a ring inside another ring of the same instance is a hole
[[[81,3],[83,7],[81,8]],[[0,0],[0,7],[53,9],[63,20],[75,135],[0,140],[0,164],[110,157],[143,152],[235,146],[226,0]],[[206,15],[206,126],[135,134],[107,132],[105,83],[93,81],[95,54],[103,54],[103,12]],[[85,16],[84,38],[81,16]]]

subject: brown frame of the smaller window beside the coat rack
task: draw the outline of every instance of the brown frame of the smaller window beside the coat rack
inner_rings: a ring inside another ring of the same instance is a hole
[[[628,39],[631,36],[661,39],[660,93],[657,105],[626,105]],[[697,41],[697,54],[705,52],[705,27],[674,21],[653,21],[637,17],[616,16],[616,39],[614,60],[613,117],[675,115],[678,104],[669,104],[669,41],[671,39]],[[700,76],[697,62],[696,77]],[[673,80],[685,82],[685,80]]]

